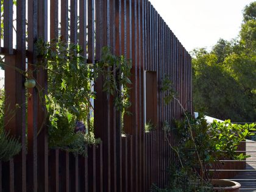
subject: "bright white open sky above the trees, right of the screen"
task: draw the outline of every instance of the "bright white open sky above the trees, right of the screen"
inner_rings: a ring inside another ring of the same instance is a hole
[[[210,49],[237,37],[244,6],[253,0],[149,0],[187,49]]]

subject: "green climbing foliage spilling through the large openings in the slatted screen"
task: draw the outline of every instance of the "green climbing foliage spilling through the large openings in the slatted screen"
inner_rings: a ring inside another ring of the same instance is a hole
[[[37,50],[41,62],[35,67],[48,71],[48,95],[44,100],[49,116],[49,146],[86,154],[88,144],[100,142],[93,134],[94,82],[102,76],[103,91],[108,98],[112,95],[117,110],[124,112],[130,107],[131,64],[123,56],[111,54],[110,48],[102,48],[98,63],[87,63],[80,46],[60,39],[39,40]],[[77,120],[85,122],[85,135],[74,132]]]

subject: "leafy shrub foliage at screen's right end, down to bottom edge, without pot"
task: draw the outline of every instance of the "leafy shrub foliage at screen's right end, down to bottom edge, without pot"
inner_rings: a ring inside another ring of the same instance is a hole
[[[163,123],[166,140],[175,135],[176,146],[169,146],[175,152],[179,165],[171,166],[168,170],[169,185],[160,189],[153,185],[152,191],[212,191],[210,180],[214,177],[215,169],[221,160],[244,160],[243,153],[238,154],[240,141],[246,139],[256,130],[256,124],[231,124],[213,121],[208,124],[203,115],[193,118],[185,113],[185,118],[174,121],[174,127],[168,122]]]

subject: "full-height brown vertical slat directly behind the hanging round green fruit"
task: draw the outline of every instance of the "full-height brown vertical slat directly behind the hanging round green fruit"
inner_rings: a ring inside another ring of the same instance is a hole
[[[37,9],[38,3],[36,0],[28,0],[27,4],[27,17],[28,17],[28,63],[36,62],[36,51],[34,41],[37,39]],[[28,65],[30,70],[33,70],[32,65]],[[37,78],[37,74],[33,74],[34,78]],[[37,191],[37,118],[38,118],[38,98],[37,90],[35,88],[30,89],[29,93],[32,95],[28,98],[27,104],[27,162],[29,163],[27,169],[27,190],[28,191]]]

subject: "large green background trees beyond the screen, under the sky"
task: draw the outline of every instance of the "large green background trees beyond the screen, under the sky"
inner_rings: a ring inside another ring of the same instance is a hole
[[[195,110],[233,122],[256,120],[255,6],[245,7],[239,38],[192,52]]]

